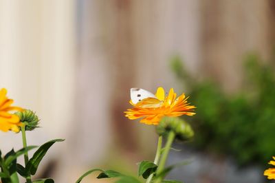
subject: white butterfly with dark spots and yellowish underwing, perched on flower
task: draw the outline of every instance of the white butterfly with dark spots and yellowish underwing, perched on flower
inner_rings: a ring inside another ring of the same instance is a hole
[[[131,101],[135,105],[140,107],[159,107],[163,101],[157,99],[157,97],[151,92],[141,88],[131,88]]]

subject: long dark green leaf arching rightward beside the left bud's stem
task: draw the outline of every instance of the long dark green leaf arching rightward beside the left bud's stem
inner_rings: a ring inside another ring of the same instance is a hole
[[[25,167],[26,171],[28,171],[31,175],[34,175],[39,167],[39,163],[43,159],[44,155],[47,153],[47,150],[49,150],[50,147],[52,147],[52,144],[54,144],[55,142],[62,141],[64,141],[64,139],[55,139],[41,145],[41,147],[39,147],[39,149],[37,149],[37,151],[34,153],[32,158],[30,158],[30,161]]]

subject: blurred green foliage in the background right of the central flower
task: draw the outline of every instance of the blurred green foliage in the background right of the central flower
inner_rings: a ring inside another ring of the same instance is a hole
[[[188,90],[197,109],[188,118],[194,128],[194,147],[227,155],[239,165],[262,164],[275,155],[275,70],[261,58],[245,58],[244,82],[239,92],[227,94],[214,80],[196,80],[179,57],[173,72]]]

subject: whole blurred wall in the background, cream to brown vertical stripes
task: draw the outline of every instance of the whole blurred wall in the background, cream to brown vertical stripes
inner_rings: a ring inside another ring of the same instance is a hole
[[[57,162],[57,182],[72,182],[110,151],[153,158],[154,127],[122,113],[131,87],[180,92],[169,67],[179,55],[193,76],[234,92],[245,53],[270,59],[273,28],[267,0],[0,0],[0,86],[41,118],[29,144],[66,138],[45,162]],[[21,147],[19,134],[0,136],[1,149]]]

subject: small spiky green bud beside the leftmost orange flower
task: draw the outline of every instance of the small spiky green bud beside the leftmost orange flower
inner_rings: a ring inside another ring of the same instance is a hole
[[[19,116],[21,122],[25,123],[26,131],[32,131],[39,127],[39,117],[35,115],[34,111],[25,109],[23,111],[18,111],[15,114]]]

